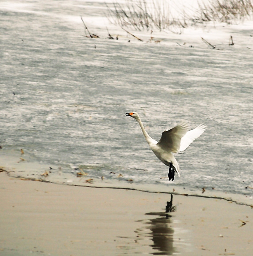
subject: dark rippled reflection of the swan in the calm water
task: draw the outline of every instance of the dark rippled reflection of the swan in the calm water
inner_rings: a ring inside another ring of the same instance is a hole
[[[176,252],[176,248],[173,246],[173,234],[174,230],[170,226],[171,217],[170,213],[176,210],[175,206],[172,206],[173,195],[171,199],[166,203],[165,211],[163,212],[149,212],[146,215],[158,216],[157,218],[151,218],[145,220],[144,228],[136,230],[139,239],[142,237],[149,237],[153,242],[150,245],[155,252],[153,255],[172,255]]]

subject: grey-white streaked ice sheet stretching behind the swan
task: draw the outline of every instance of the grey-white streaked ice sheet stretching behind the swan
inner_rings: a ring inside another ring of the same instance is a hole
[[[111,25],[105,11],[78,0],[0,3],[0,154],[21,157],[21,169],[30,162],[50,171],[17,174],[16,165],[15,175],[251,198],[253,30],[213,29],[216,49],[201,40],[205,30],[163,33],[155,44],[148,32],[129,29],[141,42]],[[99,38],[84,37],[80,16]],[[106,25],[119,40],[107,38]],[[167,166],[126,112],[138,112],[156,140],[180,120],[207,125],[176,155],[181,177],[168,181]],[[80,169],[87,176],[77,177]]]

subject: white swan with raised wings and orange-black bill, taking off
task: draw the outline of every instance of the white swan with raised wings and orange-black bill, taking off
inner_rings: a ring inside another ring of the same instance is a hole
[[[205,132],[205,124],[200,124],[193,130],[189,131],[187,123],[182,122],[172,129],[165,130],[161,134],[161,139],[157,142],[152,139],[145,130],[138,113],[126,113],[128,117],[134,118],[143,132],[147,143],[154,154],[164,163],[169,166],[169,181],[174,181],[175,171],[180,177],[179,164],[176,161],[173,153],[184,151],[193,141]]]

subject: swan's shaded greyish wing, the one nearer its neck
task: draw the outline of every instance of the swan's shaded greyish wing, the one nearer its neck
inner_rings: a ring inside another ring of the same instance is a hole
[[[158,141],[157,145],[166,151],[176,153],[180,149],[181,138],[188,130],[188,124],[181,123],[170,130],[164,131],[162,132],[161,139]]]

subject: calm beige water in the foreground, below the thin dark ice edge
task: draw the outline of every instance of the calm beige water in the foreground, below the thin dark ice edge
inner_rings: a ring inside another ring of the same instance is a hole
[[[253,209],[225,200],[174,195],[166,213],[168,194],[25,181],[4,172],[0,197],[3,256],[253,252]]]

